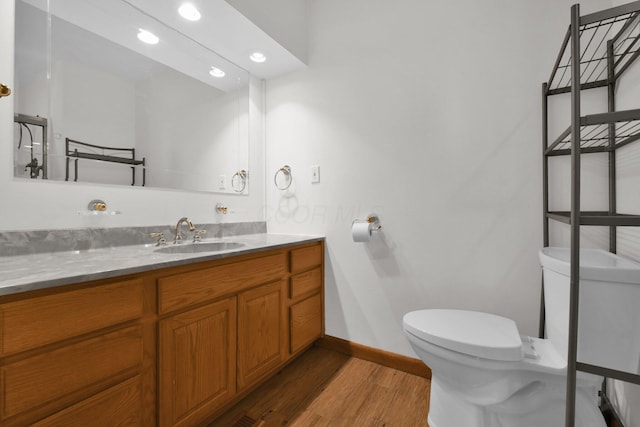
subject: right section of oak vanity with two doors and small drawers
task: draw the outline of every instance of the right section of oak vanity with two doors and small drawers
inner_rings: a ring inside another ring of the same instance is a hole
[[[322,335],[323,252],[315,242],[158,279],[160,426],[205,424]]]

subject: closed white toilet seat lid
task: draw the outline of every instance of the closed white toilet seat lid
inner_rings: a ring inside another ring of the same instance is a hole
[[[405,314],[407,332],[431,344],[484,359],[522,360],[522,340],[515,322],[495,314],[431,309]]]

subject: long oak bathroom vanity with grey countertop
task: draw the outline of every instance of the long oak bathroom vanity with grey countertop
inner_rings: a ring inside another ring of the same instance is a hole
[[[324,240],[278,242],[12,284],[0,424],[206,424],[323,335]]]

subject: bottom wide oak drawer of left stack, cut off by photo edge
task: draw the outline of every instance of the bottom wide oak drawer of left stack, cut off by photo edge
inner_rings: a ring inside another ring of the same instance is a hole
[[[141,425],[142,387],[140,377],[135,376],[53,414],[33,427]]]

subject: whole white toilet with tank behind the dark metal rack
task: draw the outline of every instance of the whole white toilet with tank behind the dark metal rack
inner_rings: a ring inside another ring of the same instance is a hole
[[[539,252],[545,339],[521,336],[513,320],[477,311],[425,309],[404,316],[411,346],[431,368],[430,427],[564,425],[569,254],[567,248]],[[633,325],[640,315],[608,304],[640,305],[640,264],[596,249],[582,249],[580,260],[578,360],[636,373],[640,332]],[[614,333],[603,320],[630,326]],[[603,351],[620,345],[625,351]],[[576,426],[606,426],[598,408],[601,384],[601,377],[577,372]]]

